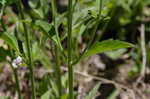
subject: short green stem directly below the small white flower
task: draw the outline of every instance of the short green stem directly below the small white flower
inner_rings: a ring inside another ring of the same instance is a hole
[[[18,99],[22,99],[21,98],[21,90],[20,90],[20,85],[19,85],[17,69],[13,68],[13,72],[14,72],[15,81],[16,81],[16,87],[17,87],[17,92],[18,92]]]

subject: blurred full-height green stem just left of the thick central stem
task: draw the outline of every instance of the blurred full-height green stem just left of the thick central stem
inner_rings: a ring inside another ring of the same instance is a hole
[[[55,31],[56,31],[56,36],[57,36],[57,40],[59,40],[59,34],[58,34],[58,26],[57,26],[57,23],[56,23],[56,15],[57,15],[57,9],[56,9],[56,1],[55,0],[52,0],[51,1],[52,3],[52,14],[53,14],[53,22],[54,22],[54,26],[55,26]],[[62,95],[62,85],[61,85],[61,69],[60,69],[60,61],[59,61],[59,46],[57,46],[55,44],[55,48],[54,48],[54,51],[55,51],[55,61],[56,61],[56,76],[57,76],[57,87],[58,87],[58,91],[59,91],[59,98],[58,99],[61,99],[61,95]]]

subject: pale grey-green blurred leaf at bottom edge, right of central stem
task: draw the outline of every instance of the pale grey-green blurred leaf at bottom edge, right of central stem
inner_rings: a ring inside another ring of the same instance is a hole
[[[100,87],[100,83],[98,83],[90,92],[89,94],[85,97],[85,99],[93,99],[96,96],[96,93]]]

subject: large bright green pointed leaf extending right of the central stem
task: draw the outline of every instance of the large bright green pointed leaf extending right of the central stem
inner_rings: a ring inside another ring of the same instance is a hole
[[[102,42],[97,42],[93,46],[91,46],[87,50],[87,52],[85,52],[82,58],[86,58],[98,53],[117,50],[121,48],[129,48],[129,47],[133,47],[133,45],[119,40],[112,40],[112,39],[105,40]]]

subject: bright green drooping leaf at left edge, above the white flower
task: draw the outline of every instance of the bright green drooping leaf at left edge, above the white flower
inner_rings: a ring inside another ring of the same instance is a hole
[[[0,39],[3,39],[12,49],[19,52],[19,47],[15,36],[10,33],[0,33]]]

